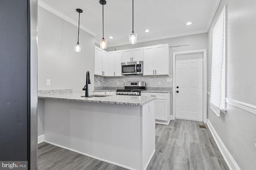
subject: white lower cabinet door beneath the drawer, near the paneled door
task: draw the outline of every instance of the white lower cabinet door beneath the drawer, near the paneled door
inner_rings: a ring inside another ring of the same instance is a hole
[[[168,100],[155,100],[155,107],[156,107],[156,117],[157,120],[164,120],[167,121],[168,117]]]

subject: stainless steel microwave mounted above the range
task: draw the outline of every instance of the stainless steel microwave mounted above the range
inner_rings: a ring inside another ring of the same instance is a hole
[[[143,61],[121,63],[122,75],[143,74]]]

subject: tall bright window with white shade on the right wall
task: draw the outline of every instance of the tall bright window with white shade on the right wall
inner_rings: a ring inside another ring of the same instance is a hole
[[[226,6],[212,30],[210,108],[217,116],[225,110],[226,98]]]

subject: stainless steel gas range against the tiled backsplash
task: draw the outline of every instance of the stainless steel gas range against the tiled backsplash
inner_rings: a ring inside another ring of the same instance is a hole
[[[116,94],[140,96],[142,90],[146,90],[146,82],[124,82],[124,89],[116,90]]]

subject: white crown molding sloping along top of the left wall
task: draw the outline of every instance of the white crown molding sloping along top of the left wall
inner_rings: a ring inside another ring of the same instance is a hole
[[[48,10],[49,12],[51,12],[52,14],[55,14],[56,16],[62,18],[63,20],[68,21],[69,23],[72,23],[73,25],[75,25],[76,27],[78,27],[78,22],[69,18],[68,16],[66,16],[65,14],[61,13],[60,11],[56,10],[55,8],[52,8],[51,6],[49,6],[48,4],[42,2],[42,0],[38,0],[38,6],[41,6],[42,8]],[[84,25],[80,24],[80,28],[84,31],[86,31],[87,33],[93,35],[94,37],[97,35],[95,32],[93,32],[92,30],[88,29],[87,27],[85,27]]]

